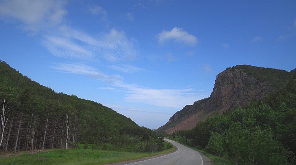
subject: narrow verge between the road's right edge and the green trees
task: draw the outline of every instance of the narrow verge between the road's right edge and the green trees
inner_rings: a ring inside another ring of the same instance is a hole
[[[175,141],[172,138],[169,138],[169,139],[172,140],[172,141]],[[178,141],[176,141],[176,142],[178,142]],[[178,142],[178,143],[180,143],[180,142]],[[212,155],[212,154],[208,153],[205,150],[196,149],[196,148],[188,146],[187,144],[184,144],[184,143],[181,143],[181,144],[183,144],[184,146],[187,146],[187,147],[189,147],[189,148],[191,148],[193,150],[196,150],[196,151],[199,151],[199,152],[203,153],[205,156],[207,156],[209,159],[211,159],[211,161],[212,161],[212,163],[214,165],[233,165],[233,163],[231,161],[229,161],[227,159],[220,158],[220,157],[215,156],[215,155]]]

